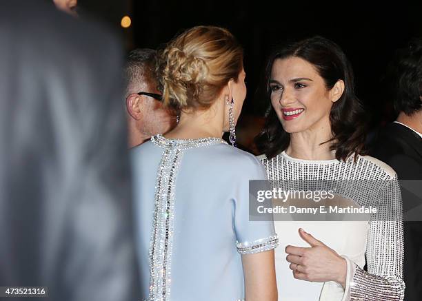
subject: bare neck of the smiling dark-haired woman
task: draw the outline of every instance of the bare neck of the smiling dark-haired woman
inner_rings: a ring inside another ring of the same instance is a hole
[[[331,133],[327,130],[292,133],[285,153],[303,160],[332,160],[336,156],[335,151],[330,150],[331,143],[323,143],[330,138]]]

